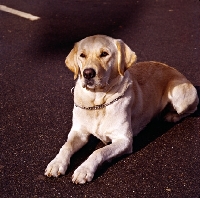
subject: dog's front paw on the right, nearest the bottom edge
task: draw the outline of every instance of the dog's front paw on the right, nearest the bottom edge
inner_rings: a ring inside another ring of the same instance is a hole
[[[90,182],[94,177],[94,171],[85,165],[79,166],[72,176],[72,182],[75,184],[84,184]]]

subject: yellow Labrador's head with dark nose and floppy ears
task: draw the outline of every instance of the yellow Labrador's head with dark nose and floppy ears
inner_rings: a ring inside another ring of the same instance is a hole
[[[76,43],[65,63],[83,87],[102,89],[118,75],[124,75],[136,59],[122,40],[95,35]]]

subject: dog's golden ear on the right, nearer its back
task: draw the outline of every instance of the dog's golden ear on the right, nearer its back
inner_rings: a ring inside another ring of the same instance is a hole
[[[137,56],[122,40],[116,40],[118,51],[118,71],[120,75],[137,61]]]

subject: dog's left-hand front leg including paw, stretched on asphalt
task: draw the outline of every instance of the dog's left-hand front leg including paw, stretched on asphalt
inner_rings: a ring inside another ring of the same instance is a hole
[[[62,146],[56,157],[48,164],[45,175],[58,177],[64,175],[71,156],[88,142],[89,134],[70,131],[67,142]]]

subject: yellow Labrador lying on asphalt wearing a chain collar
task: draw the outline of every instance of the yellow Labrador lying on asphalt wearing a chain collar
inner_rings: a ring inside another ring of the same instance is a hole
[[[103,162],[132,152],[136,136],[166,106],[169,122],[194,113],[199,102],[195,87],[176,69],[149,61],[136,63],[136,54],[120,39],[86,37],[66,58],[77,79],[73,124],[67,142],[48,164],[45,175],[64,175],[71,156],[92,134],[105,146],[95,150],[72,176],[76,184],[93,179]]]

